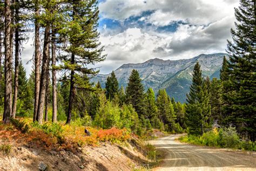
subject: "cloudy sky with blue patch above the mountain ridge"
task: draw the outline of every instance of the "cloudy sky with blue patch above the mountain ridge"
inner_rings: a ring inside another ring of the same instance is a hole
[[[152,58],[225,52],[238,6],[239,0],[99,0],[99,41],[107,57],[95,67],[105,74]],[[33,55],[31,37],[21,56],[24,64]],[[25,65],[27,72],[31,65]]]

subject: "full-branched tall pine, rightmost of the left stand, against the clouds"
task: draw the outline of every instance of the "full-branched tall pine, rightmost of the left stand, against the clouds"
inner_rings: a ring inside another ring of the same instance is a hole
[[[103,47],[98,42],[98,19],[99,10],[96,0],[80,1],[73,0],[67,5],[70,9],[63,29],[59,30],[60,37],[64,40],[64,51],[68,55],[62,56],[65,61],[62,69],[70,71],[70,94],[68,118],[66,124],[70,124],[73,99],[75,96],[75,86],[80,86],[76,80],[81,80],[85,74],[96,74],[93,68],[88,68],[90,64],[95,64],[105,59],[102,56]],[[66,46],[68,44],[68,46]]]

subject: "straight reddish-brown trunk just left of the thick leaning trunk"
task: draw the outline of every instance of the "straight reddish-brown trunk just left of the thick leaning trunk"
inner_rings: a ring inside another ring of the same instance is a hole
[[[40,54],[40,35],[39,35],[39,24],[38,24],[38,0],[35,2],[35,101],[34,101],[34,114],[33,121],[37,118],[37,107],[38,107],[38,98],[39,98],[39,87],[40,87],[40,65],[41,65],[41,54]]]

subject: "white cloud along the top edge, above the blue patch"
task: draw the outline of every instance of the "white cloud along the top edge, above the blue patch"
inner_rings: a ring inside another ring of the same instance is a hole
[[[207,25],[226,16],[234,16],[234,6],[239,0],[107,0],[100,3],[103,17],[124,20],[141,15],[143,11],[154,11],[147,22],[157,26],[183,20],[194,25]]]

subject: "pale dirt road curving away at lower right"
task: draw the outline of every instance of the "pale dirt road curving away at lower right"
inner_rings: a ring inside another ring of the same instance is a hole
[[[153,170],[256,170],[256,153],[188,145],[175,140],[179,136],[150,141],[166,152],[160,166]]]

